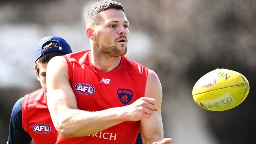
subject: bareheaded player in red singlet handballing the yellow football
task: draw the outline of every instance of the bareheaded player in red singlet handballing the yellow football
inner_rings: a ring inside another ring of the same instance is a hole
[[[89,8],[91,50],[50,60],[47,102],[58,131],[56,144],[167,144],[157,74],[125,56],[129,22],[121,4],[103,0]]]

